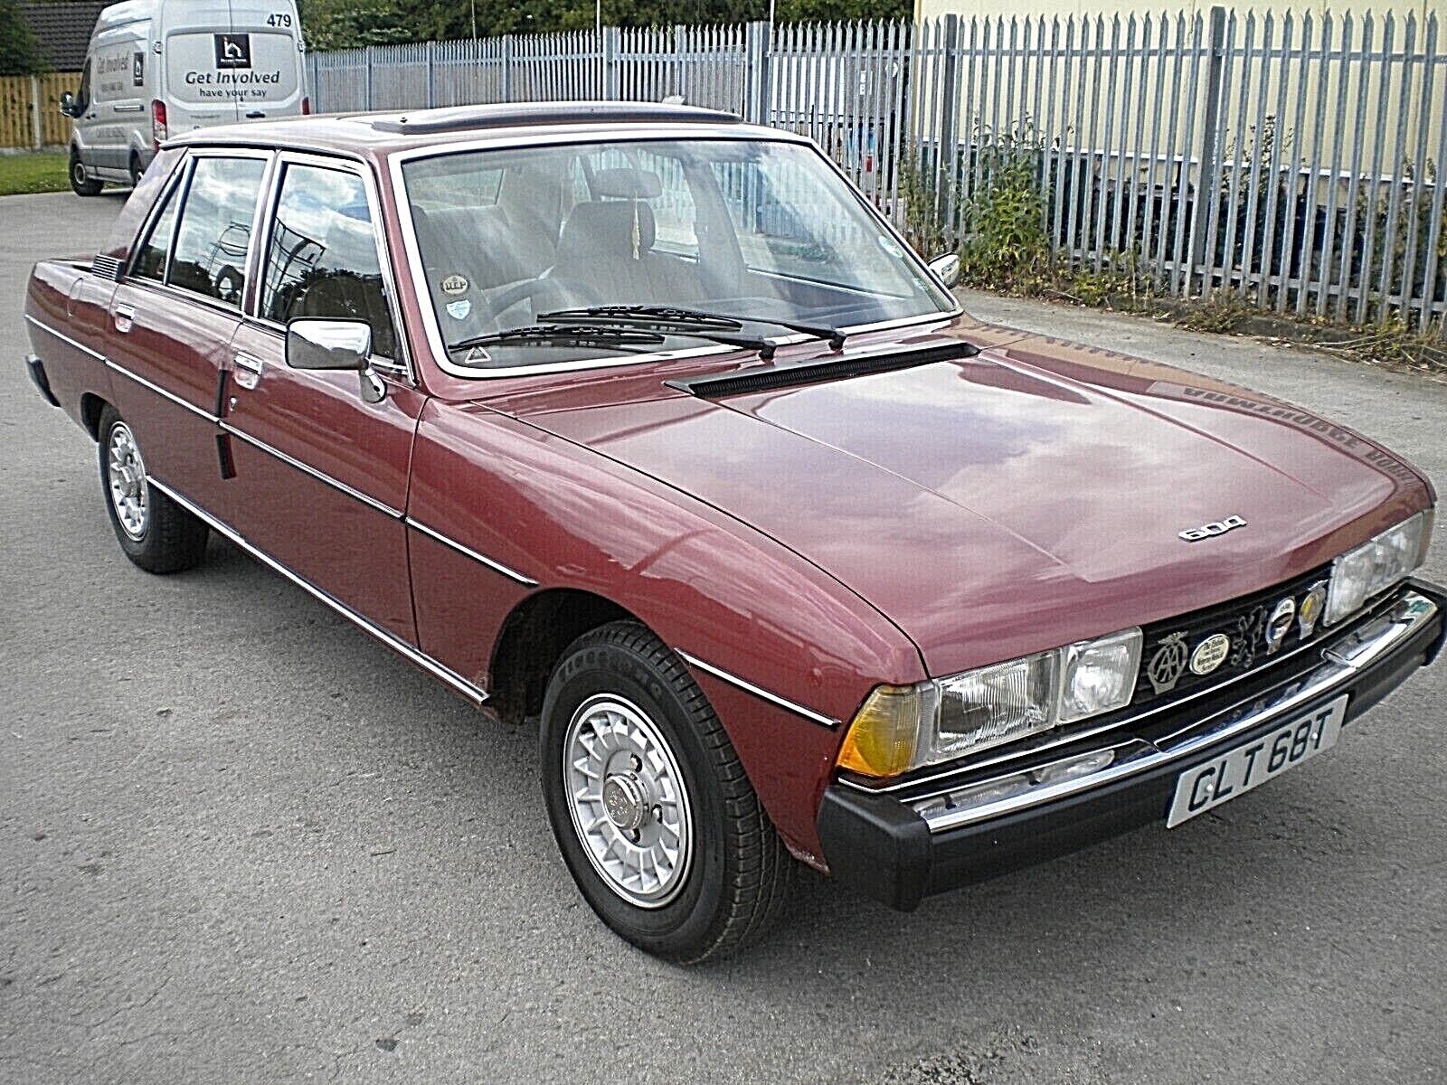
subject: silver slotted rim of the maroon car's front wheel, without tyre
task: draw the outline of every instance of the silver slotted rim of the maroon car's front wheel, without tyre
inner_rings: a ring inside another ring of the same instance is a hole
[[[573,829],[603,882],[644,909],[683,888],[693,814],[679,762],[658,726],[615,694],[583,702],[563,739]]]

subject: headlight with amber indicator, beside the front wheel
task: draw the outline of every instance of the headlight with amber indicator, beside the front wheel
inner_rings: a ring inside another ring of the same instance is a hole
[[[1130,703],[1140,629],[917,686],[880,686],[849,723],[839,767],[873,777],[988,749]]]

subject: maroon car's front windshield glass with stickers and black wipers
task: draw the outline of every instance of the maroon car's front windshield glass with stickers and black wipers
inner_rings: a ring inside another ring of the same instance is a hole
[[[745,339],[792,334],[781,323],[839,328],[954,310],[828,162],[797,143],[472,150],[412,159],[402,175],[449,357],[479,370],[638,353],[532,334],[551,314],[595,307],[725,314]],[[684,326],[650,328],[664,341],[647,353],[709,346]]]

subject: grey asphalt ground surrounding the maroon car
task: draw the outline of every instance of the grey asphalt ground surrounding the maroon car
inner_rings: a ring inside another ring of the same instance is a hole
[[[1443,1081],[1447,661],[1181,829],[910,916],[809,877],[751,953],[660,965],[574,893],[534,735],[226,544],[175,577],[122,557],[94,446],[19,366],[30,262],[119,210],[0,200],[0,1082]],[[1447,483],[1447,385],[971,301]]]

